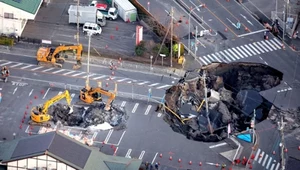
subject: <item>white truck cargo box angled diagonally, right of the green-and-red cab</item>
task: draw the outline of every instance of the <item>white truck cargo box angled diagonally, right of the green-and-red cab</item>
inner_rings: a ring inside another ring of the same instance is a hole
[[[114,0],[113,6],[118,10],[119,16],[125,22],[135,22],[137,18],[137,10],[128,0]]]

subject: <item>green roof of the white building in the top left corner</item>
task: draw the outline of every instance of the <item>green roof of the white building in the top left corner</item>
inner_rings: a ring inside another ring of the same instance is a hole
[[[0,0],[0,2],[31,14],[36,14],[41,6],[42,0]]]

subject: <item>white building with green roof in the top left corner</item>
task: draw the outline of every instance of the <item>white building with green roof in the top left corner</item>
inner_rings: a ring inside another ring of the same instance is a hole
[[[34,20],[42,0],[1,0],[0,33],[20,36],[28,20]]]

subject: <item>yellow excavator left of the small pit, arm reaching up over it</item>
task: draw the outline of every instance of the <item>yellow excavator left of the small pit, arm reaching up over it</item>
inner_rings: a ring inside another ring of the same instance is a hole
[[[48,114],[49,107],[60,101],[61,99],[66,98],[67,104],[70,108],[70,113],[73,112],[71,104],[71,96],[68,90],[66,90],[62,94],[58,94],[53,98],[46,101],[42,106],[35,106],[31,109],[30,120],[28,122],[29,125],[38,125],[38,126],[47,126],[51,127],[51,116]]]

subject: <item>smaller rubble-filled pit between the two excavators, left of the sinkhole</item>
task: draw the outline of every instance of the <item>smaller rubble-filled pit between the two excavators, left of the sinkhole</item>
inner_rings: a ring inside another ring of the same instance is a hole
[[[67,105],[58,103],[49,108],[48,114],[52,116],[55,124],[59,121],[64,126],[87,128],[107,122],[117,129],[126,127],[128,116],[124,107],[112,105],[110,111],[105,111],[104,107],[102,102],[89,107],[73,106],[73,111],[69,113],[70,108]]]

